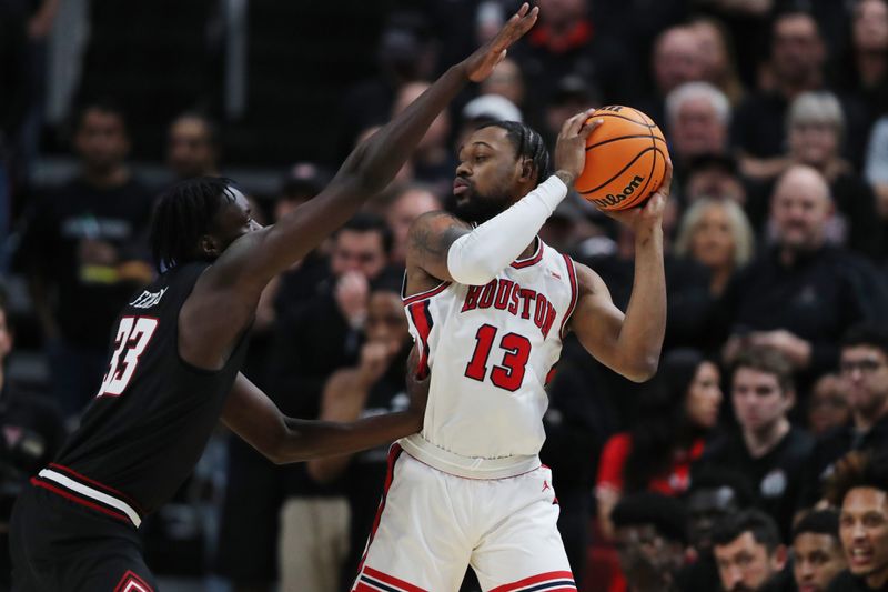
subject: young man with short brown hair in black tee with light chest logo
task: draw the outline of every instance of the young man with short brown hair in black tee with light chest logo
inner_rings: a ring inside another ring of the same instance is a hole
[[[790,532],[805,461],[814,439],[789,423],[795,404],[793,370],[778,352],[741,352],[730,380],[730,401],[739,429],[715,440],[702,464],[731,466],[749,478],[757,505]],[[724,574],[723,574],[724,578]]]

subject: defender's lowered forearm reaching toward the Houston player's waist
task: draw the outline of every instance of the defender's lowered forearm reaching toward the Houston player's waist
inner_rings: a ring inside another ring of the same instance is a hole
[[[279,464],[306,461],[330,454],[350,454],[376,448],[416,433],[422,414],[402,411],[339,423],[287,419],[287,434],[274,455]]]

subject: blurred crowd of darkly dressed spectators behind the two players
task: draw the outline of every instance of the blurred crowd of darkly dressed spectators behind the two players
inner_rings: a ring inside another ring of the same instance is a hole
[[[162,182],[145,180],[125,101],[84,96],[67,127],[75,172],[36,182],[41,48],[64,3],[0,1],[0,522],[101,383],[120,308],[162,271],[147,244],[159,191],[238,165],[221,158],[225,118],[182,104]],[[536,3],[535,29],[435,120],[397,180],[272,282],[244,373],[295,417],[406,407],[404,242],[416,217],[452,205],[462,139],[517,120],[553,148],[567,117],[633,106],[675,167],[668,324],[644,385],[565,341],[542,458],[579,590],[888,590],[888,2]],[[271,224],[313,199],[514,8],[390,2],[375,71],[331,107],[331,149],[281,168],[273,191],[244,184],[253,217]],[[625,310],[625,227],[573,195],[542,239]],[[23,354],[43,370],[13,372]],[[148,562],[196,590],[347,590],[385,468],[384,449],[275,466],[220,429],[147,521]]]

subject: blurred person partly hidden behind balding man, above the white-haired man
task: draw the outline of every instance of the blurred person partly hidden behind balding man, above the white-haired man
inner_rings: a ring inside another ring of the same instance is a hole
[[[731,107],[736,107],[743,99],[744,88],[737,74],[730,31],[720,20],[706,16],[692,19],[689,27],[700,44],[703,80],[724,92]]]

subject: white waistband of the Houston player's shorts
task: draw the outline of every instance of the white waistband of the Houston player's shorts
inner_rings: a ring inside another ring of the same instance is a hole
[[[463,456],[436,446],[420,434],[402,438],[397,443],[414,459],[444,473],[466,479],[506,479],[535,471],[542,465],[536,454],[501,459]]]

